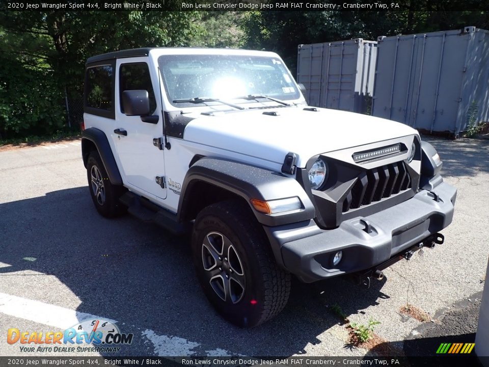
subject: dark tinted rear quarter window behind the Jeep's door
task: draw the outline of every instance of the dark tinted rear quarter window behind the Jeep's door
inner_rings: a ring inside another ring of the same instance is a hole
[[[104,111],[112,110],[114,105],[112,73],[112,65],[100,65],[87,69],[87,107]]]

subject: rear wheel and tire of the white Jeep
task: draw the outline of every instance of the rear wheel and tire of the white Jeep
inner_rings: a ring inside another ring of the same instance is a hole
[[[87,178],[90,196],[101,216],[113,218],[126,212],[127,208],[119,202],[125,189],[122,186],[112,185],[96,150],[90,152],[88,156]]]

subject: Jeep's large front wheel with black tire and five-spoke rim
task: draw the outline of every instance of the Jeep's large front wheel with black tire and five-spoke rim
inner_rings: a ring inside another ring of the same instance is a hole
[[[199,213],[192,253],[205,295],[227,321],[254,327],[287,304],[290,274],[275,263],[265,233],[241,202],[212,204]]]

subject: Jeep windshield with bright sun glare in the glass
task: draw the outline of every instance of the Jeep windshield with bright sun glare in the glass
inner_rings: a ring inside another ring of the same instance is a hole
[[[232,100],[248,95],[297,99],[300,94],[283,64],[276,58],[245,55],[165,55],[158,58],[165,90],[174,106],[195,106],[174,102],[191,98]],[[234,103],[249,100],[234,100]],[[211,102],[219,104],[219,101]]]

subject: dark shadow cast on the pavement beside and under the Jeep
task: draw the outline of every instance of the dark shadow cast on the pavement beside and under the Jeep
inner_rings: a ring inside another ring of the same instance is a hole
[[[209,347],[214,353],[219,348],[247,355],[300,354],[338,323],[331,305],[339,304],[348,315],[389,297],[381,291],[385,280],[368,291],[346,279],[296,281],[277,318],[241,330],[207,302],[186,240],[131,216],[100,217],[87,187],[0,204],[0,218],[0,261],[11,265],[0,268],[0,276],[25,270],[56,276],[81,301],[77,311],[117,320],[124,323],[122,332],[134,333],[135,343],[125,355],[153,354],[141,334],[146,329],[201,344],[193,349],[196,355],[205,355]]]

